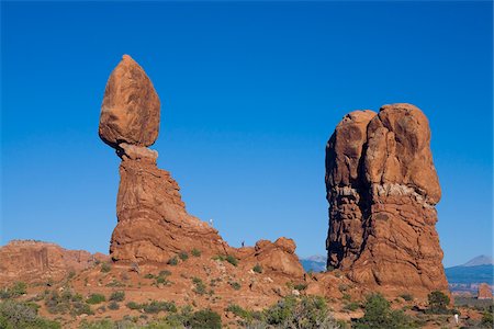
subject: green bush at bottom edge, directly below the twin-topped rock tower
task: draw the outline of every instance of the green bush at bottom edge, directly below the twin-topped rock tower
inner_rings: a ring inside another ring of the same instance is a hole
[[[355,328],[416,328],[414,321],[403,310],[392,310],[390,302],[381,294],[368,296],[363,308],[363,317],[355,321]]]

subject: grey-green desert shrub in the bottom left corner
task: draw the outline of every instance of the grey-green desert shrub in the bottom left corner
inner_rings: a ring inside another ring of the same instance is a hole
[[[37,315],[38,305],[15,300],[0,302],[0,328],[2,329],[59,329],[60,324]]]

